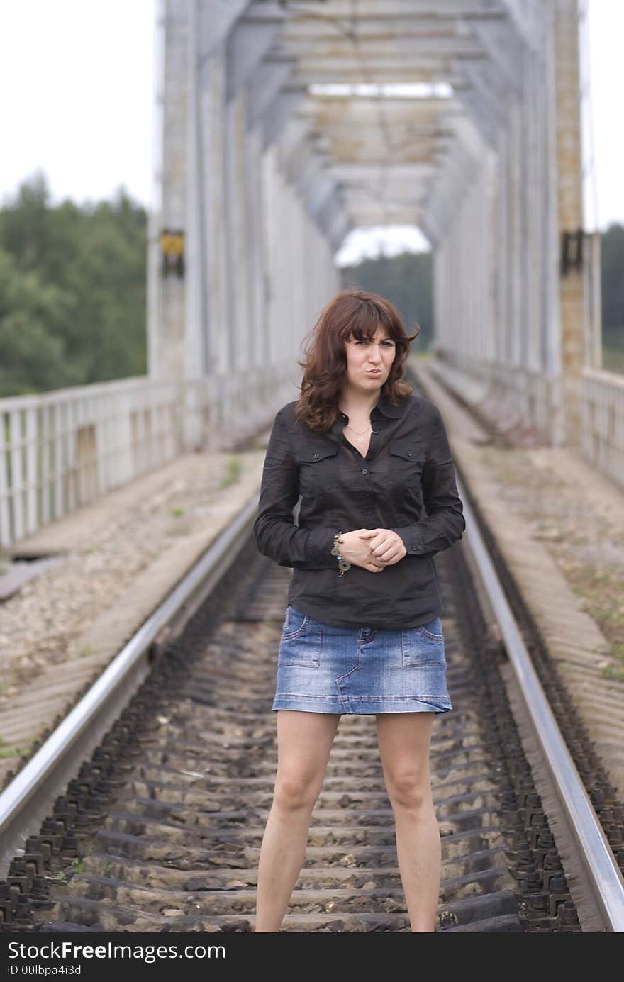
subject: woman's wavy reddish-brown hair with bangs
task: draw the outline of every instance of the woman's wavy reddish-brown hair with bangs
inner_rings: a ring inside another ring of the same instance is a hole
[[[381,392],[396,406],[414,391],[407,382],[405,360],[410,344],[421,333],[409,335],[401,314],[390,300],[365,290],[341,290],[320,311],[312,331],[304,338],[305,359],[297,363],[303,368],[301,395],[295,417],[308,423],[312,430],[327,432],[338,418],[338,402],[347,376],[346,342],[369,340],[377,327],[383,327],[395,344],[396,355]]]

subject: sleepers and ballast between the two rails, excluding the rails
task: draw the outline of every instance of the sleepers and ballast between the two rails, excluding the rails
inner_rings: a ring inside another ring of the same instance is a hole
[[[461,548],[437,564],[454,711],[436,719],[431,743],[443,858],[436,930],[578,932],[587,928],[510,711],[504,654]],[[12,860],[0,885],[3,930],[254,929],[288,575],[248,541],[161,648]],[[410,930],[373,717],[341,719],[282,930]]]

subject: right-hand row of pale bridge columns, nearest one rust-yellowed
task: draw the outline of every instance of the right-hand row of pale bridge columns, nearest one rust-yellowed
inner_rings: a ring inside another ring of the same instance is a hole
[[[508,39],[513,83],[494,82],[504,122],[491,142],[485,102],[472,129],[457,131],[426,215],[436,232],[438,348],[489,377],[500,418],[554,444],[578,444],[591,348],[587,271],[560,269],[563,233],[583,225],[577,4],[535,5]],[[497,37],[495,52],[505,43]],[[484,323],[493,325],[487,343]]]

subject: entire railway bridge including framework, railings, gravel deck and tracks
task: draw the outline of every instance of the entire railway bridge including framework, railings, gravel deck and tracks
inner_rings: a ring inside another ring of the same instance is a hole
[[[436,930],[624,930],[624,376],[583,17],[158,0],[148,372],[0,400],[0,930],[253,928],[288,577],[250,538],[268,428],[338,249],[384,225],[431,246],[409,378],[468,519],[436,557]],[[285,930],[410,929],[391,818],[346,717]]]

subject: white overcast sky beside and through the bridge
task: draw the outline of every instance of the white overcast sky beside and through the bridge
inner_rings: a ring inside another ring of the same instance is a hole
[[[603,229],[624,223],[624,0],[589,0],[589,11],[596,184],[586,126],[586,227],[596,227],[597,199]],[[0,0],[0,198],[41,167],[56,200],[108,197],[123,184],[148,204],[153,20],[152,0]],[[356,236],[339,261],[376,251],[380,238]],[[424,242],[414,229],[388,241]]]

